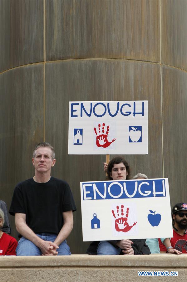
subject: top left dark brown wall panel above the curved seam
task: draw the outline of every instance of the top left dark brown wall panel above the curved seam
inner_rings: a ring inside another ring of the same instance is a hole
[[[44,60],[43,0],[0,1],[0,72]]]

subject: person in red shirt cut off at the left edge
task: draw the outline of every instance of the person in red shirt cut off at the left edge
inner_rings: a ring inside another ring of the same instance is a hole
[[[4,212],[0,209],[0,256],[16,256],[17,240],[2,232]]]

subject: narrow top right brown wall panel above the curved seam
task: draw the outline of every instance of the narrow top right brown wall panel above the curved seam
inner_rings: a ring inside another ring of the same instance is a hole
[[[187,70],[187,1],[161,1],[162,63]]]

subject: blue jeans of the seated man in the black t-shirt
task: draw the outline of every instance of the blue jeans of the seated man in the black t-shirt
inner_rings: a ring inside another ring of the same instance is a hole
[[[44,241],[51,241],[54,242],[57,238],[56,234],[52,233],[42,233],[36,234]],[[71,255],[70,247],[67,245],[66,240],[64,240],[57,249],[58,256],[68,256]],[[38,248],[35,244],[31,241],[27,240],[25,237],[22,237],[17,245],[16,248],[16,255],[17,256],[41,256],[42,252],[40,248]]]

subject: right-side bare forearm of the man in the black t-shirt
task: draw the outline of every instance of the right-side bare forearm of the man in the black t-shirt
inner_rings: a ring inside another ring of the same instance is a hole
[[[59,246],[71,233],[73,229],[73,212],[72,210],[64,211],[62,213],[64,224],[61,231],[59,232],[57,238],[54,241],[54,244]]]

